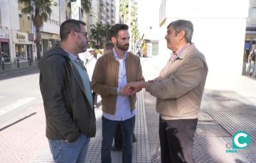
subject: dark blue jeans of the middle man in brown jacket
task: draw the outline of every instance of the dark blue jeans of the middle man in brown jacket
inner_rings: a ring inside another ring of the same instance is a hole
[[[132,134],[135,125],[135,116],[124,121],[109,120],[102,116],[102,163],[111,163],[110,150],[119,123],[122,126],[122,162],[132,162]]]

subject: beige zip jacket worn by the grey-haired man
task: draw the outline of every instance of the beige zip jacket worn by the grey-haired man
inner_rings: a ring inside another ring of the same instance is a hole
[[[208,66],[195,45],[178,60],[167,62],[160,79],[146,82],[146,91],[156,96],[156,111],[165,120],[198,118]]]

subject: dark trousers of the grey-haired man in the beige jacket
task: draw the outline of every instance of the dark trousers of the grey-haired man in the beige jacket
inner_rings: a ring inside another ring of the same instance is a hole
[[[163,120],[159,118],[162,163],[193,163],[193,137],[196,119]]]

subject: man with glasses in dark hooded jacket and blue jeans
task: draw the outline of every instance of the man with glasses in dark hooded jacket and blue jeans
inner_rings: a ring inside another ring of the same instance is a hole
[[[54,162],[85,162],[90,137],[96,133],[90,80],[78,57],[87,50],[85,25],[73,19],[63,22],[61,46],[38,62],[46,137]]]

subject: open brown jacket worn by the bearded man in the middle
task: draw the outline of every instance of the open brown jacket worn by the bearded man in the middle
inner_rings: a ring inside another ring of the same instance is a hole
[[[129,52],[125,60],[127,82],[144,80],[139,57]],[[102,111],[114,114],[117,103],[119,62],[110,52],[97,60],[92,74],[92,90],[102,97]],[[129,96],[132,110],[135,108],[136,94]]]

